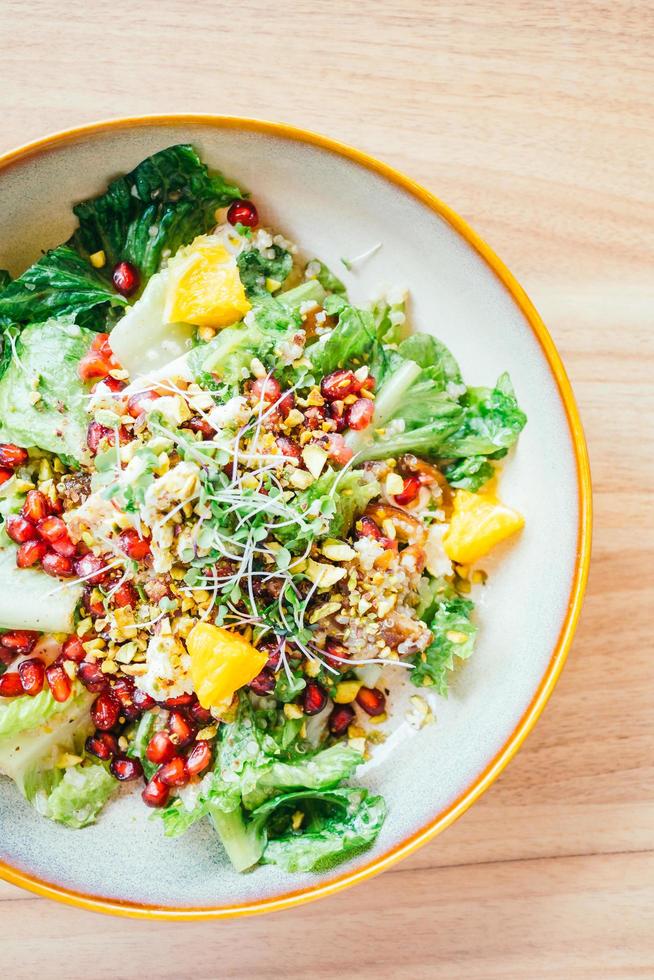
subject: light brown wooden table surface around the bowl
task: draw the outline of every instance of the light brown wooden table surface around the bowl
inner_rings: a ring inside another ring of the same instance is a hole
[[[458,209],[563,354],[596,507],[563,677],[458,824],[359,888],[234,922],[112,919],[0,884],[4,975],[654,975],[653,28],[649,0],[0,0],[0,150],[111,115],[262,116]]]

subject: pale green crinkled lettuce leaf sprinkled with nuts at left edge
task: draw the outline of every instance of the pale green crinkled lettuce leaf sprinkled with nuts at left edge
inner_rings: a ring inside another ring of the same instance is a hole
[[[17,356],[0,380],[0,441],[82,458],[87,389],[77,369],[92,339],[70,318],[23,330]]]

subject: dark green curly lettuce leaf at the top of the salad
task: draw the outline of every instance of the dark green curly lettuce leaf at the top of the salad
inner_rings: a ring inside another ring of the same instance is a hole
[[[144,284],[164,251],[174,254],[208,232],[216,208],[241,196],[236,185],[207,169],[192,146],[169,146],[73,208],[79,228],[71,245],[83,256],[104,251],[107,275],[117,262],[131,262]]]

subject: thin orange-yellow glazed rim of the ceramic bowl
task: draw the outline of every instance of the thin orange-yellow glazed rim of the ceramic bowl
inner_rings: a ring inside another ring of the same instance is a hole
[[[35,140],[24,146],[18,147],[0,156],[0,171],[7,169],[12,164],[22,163],[27,159],[40,155],[49,150],[57,149],[69,143],[75,143],[84,137],[93,136],[107,131],[134,129],[142,126],[207,126],[210,129],[243,129],[256,133],[263,133],[284,139],[294,140],[299,143],[308,143],[326,150],[337,156],[345,157],[354,163],[359,164],[366,170],[370,170],[381,177],[386,178],[392,184],[407,191],[418,201],[448,222],[464,238],[472,248],[484,259],[489,268],[495,273],[500,282],[511,294],[514,302],[522,312],[531,327],[536,339],[538,340],[545,359],[550,367],[552,375],[556,381],[561,400],[563,402],[570,438],[575,453],[577,464],[577,486],[578,486],[578,509],[579,509],[579,529],[577,536],[577,551],[575,570],[572,578],[570,597],[565,619],[561,626],[557,642],[552,651],[547,669],[536,690],[532,701],[527,710],[522,715],[520,721],[513,732],[506,740],[500,751],[495,755],[491,762],[475,778],[464,793],[449,807],[441,811],[433,820],[430,820],[424,827],[416,831],[410,837],[403,840],[400,844],[392,847],[379,857],[374,858],[363,867],[352,871],[346,871],[339,877],[315,885],[314,887],[300,888],[297,891],[287,892],[276,898],[264,898],[257,901],[246,902],[241,905],[214,906],[214,907],[188,907],[188,908],[160,908],[157,906],[143,905],[136,902],[120,902],[102,896],[89,896],[72,889],[64,888],[60,885],[42,881],[24,871],[11,867],[5,862],[0,862],[0,877],[21,888],[35,892],[48,898],[54,898],[61,902],[66,902],[78,908],[89,909],[96,912],[106,912],[113,915],[129,916],[132,918],[145,919],[216,919],[234,918],[242,915],[253,915],[261,912],[275,912],[282,909],[292,908],[304,902],[309,902],[327,895],[333,895],[344,888],[354,885],[357,882],[365,881],[373,875],[385,871],[396,861],[402,860],[412,854],[427,841],[431,840],[441,831],[449,827],[458,817],[464,813],[472,803],[484,793],[488,787],[497,779],[504,767],[510,762],[518,751],[525,738],[534,727],[540,716],[548,698],[550,697],[559,674],[563,669],[563,664],[570,649],[570,644],[574,635],[579,612],[581,609],[582,598],[588,578],[588,567],[590,563],[591,551],[591,531],[592,531],[592,494],[590,466],[588,462],[588,452],[584,438],[579,412],[575,403],[572,388],[568,380],[561,357],[554,346],[545,324],[538,315],[531,300],[525,293],[522,286],[518,283],[504,263],[495,255],[493,250],[486,244],[476,232],[455,211],[435,197],[430,191],[426,190],[414,180],[404,176],[388,164],[376,160],[367,153],[356,150],[338,140],[330,139],[309,130],[300,129],[285,123],[267,122],[260,119],[246,119],[238,116],[214,116],[205,113],[179,113],[170,115],[150,115],[150,116],[129,116],[120,119],[107,119],[100,122],[88,123],[67,129],[59,133],[45,136],[43,139]]]

